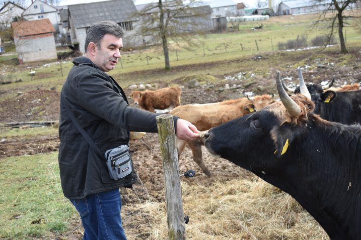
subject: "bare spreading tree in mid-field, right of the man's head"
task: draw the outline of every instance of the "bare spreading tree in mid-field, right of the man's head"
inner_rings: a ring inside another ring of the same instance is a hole
[[[195,0],[190,0],[187,4],[183,4],[181,0],[159,0],[138,11],[137,15],[141,19],[138,33],[144,36],[143,44],[162,44],[166,70],[170,69],[168,39],[176,44],[182,39],[188,47],[194,46],[194,34],[211,29],[210,7],[198,5],[199,2],[196,3]]]

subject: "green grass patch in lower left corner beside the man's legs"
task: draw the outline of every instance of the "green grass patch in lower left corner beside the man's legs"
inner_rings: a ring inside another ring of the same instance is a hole
[[[1,239],[49,239],[78,218],[61,191],[57,152],[1,163]]]

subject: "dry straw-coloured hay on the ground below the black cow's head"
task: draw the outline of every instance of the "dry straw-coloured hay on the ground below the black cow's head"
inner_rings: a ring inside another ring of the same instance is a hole
[[[181,184],[187,239],[329,239],[294,198],[256,176],[204,183]],[[164,201],[127,204],[128,239],[168,239],[166,214]]]

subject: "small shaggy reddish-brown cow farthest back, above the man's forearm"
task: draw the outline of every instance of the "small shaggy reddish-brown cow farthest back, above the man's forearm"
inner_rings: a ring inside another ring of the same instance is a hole
[[[130,97],[134,104],[145,110],[155,112],[154,109],[166,109],[176,107],[180,102],[181,89],[179,87],[166,87],[155,91],[132,91]]]

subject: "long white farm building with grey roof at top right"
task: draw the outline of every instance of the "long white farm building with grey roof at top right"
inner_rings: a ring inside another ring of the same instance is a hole
[[[278,15],[293,15],[322,12],[330,7],[329,1],[293,0],[281,2],[278,6]]]

